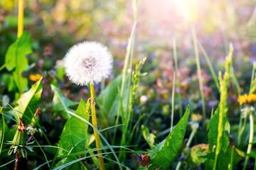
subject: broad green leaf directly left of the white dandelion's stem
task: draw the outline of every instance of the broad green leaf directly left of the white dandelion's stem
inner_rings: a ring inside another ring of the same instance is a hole
[[[87,104],[82,99],[80,100],[78,109],[75,111],[75,114],[79,115],[87,121],[90,119],[90,113],[87,110]],[[60,149],[58,152],[58,157],[69,155],[75,152],[82,152],[87,149],[87,147],[89,147],[90,143],[93,141],[91,140],[92,135],[87,132],[87,129],[88,124],[80,120],[80,118],[75,116],[70,117],[67,123],[65,123],[63,132],[60,136],[60,141],[58,142],[59,147],[68,150],[70,153],[64,152],[62,149]],[[73,160],[75,160],[74,157],[68,157],[62,159],[60,164],[65,164]],[[73,169],[75,169],[75,166],[77,165],[74,165]]]

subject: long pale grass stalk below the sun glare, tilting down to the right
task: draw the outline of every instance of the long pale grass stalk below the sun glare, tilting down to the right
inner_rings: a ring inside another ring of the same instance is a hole
[[[198,42],[196,38],[196,31],[195,28],[192,27],[192,35],[193,35],[193,45],[196,55],[196,68],[198,72],[198,81],[199,81],[199,87],[200,87],[200,96],[201,96],[201,102],[202,102],[202,109],[203,109],[203,118],[206,119],[206,103],[205,98],[203,94],[203,77],[201,73],[201,67],[200,67],[200,60],[199,60],[199,54],[198,54]]]

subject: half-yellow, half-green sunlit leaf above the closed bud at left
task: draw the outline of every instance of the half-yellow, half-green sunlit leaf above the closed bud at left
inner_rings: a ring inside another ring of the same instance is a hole
[[[18,106],[14,108],[18,117],[22,118],[26,125],[29,125],[33,118],[33,113],[31,114],[31,111],[36,111],[36,108],[38,108],[38,104],[41,101],[41,94],[43,91],[42,79],[43,77],[33,84],[29,91],[21,94],[21,97],[18,98],[17,101]]]

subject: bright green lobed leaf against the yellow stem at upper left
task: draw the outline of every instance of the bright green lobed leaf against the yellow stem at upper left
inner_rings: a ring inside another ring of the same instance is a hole
[[[6,69],[9,71],[14,69],[14,81],[18,87],[18,91],[22,93],[28,88],[28,80],[21,76],[21,73],[26,70],[28,66],[28,59],[26,55],[32,52],[32,42],[28,33],[24,32],[6,52]]]

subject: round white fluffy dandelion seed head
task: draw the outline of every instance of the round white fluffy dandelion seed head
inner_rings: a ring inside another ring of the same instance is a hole
[[[85,86],[107,79],[113,58],[100,42],[80,42],[68,50],[64,58],[65,72],[70,81]]]

